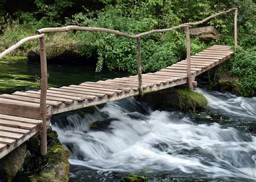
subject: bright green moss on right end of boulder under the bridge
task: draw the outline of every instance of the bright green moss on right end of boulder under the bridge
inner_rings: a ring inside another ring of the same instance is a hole
[[[203,108],[207,104],[207,99],[202,94],[187,89],[177,89],[177,92],[181,110],[192,109],[195,112],[196,108]]]

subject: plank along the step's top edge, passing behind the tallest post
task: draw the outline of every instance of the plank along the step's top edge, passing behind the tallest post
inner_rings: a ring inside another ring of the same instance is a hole
[[[0,95],[0,97],[5,98],[5,99],[11,99],[11,100],[40,103],[40,99],[33,99],[30,97],[23,97],[23,96],[18,96],[18,95],[2,94],[2,95]],[[60,104],[62,104],[62,103],[56,102],[56,101],[46,101],[46,104],[49,104],[50,106],[60,106]]]

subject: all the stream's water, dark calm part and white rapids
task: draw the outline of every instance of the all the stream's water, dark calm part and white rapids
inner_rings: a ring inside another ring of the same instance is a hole
[[[49,83],[56,86],[125,75],[85,66],[48,67]],[[33,82],[40,67],[2,60],[0,72],[5,83],[0,92],[11,93],[30,87],[17,87],[10,74],[31,75],[24,80]],[[196,91],[208,100],[206,111],[197,114],[152,110],[129,98],[52,117],[52,128],[71,151],[70,181],[119,181],[127,173],[149,181],[255,180],[256,97]]]

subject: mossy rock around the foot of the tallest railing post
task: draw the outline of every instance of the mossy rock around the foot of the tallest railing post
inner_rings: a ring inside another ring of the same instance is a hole
[[[56,131],[47,134],[48,153],[40,155],[40,146],[37,137],[28,142],[30,159],[23,165],[23,171],[19,171],[15,181],[68,181],[70,152],[58,141]]]

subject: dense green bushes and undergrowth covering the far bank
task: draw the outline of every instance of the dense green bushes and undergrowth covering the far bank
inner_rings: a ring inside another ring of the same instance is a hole
[[[4,15],[2,34],[0,35],[0,51],[16,43],[21,38],[30,36],[41,27],[79,25],[97,26],[119,30],[129,34],[137,34],[152,29],[163,29],[185,22],[196,22],[219,11],[239,8],[238,40],[239,48],[235,50],[235,57],[226,64],[225,69],[232,75],[239,76],[237,89],[242,95],[255,95],[255,20],[256,5],[248,1],[218,1],[198,0],[100,0],[95,2],[98,8],[92,8],[85,1],[83,9],[78,8],[76,1],[55,1],[49,3],[44,0],[33,2],[32,10],[17,10],[12,15]],[[1,3],[0,3],[1,6]],[[79,7],[80,7],[79,6]],[[100,8],[99,8],[100,7]],[[77,9],[73,15],[68,15],[70,8]],[[191,37],[191,54],[199,52],[213,44],[234,45],[233,26],[234,14],[228,13],[211,19],[204,25],[213,25],[221,32],[216,41],[204,43],[198,37]],[[18,30],[18,31],[17,31]],[[86,41],[84,54],[98,58],[96,71],[103,67],[110,70],[118,69],[136,74],[137,51],[136,41],[103,32],[70,31],[50,33],[46,36],[47,44],[66,43],[71,41]],[[25,55],[30,48],[37,46],[37,41],[22,45],[12,55]],[[184,59],[186,56],[186,40],[184,29],[173,32],[151,34],[142,38],[143,72],[156,71]]]

